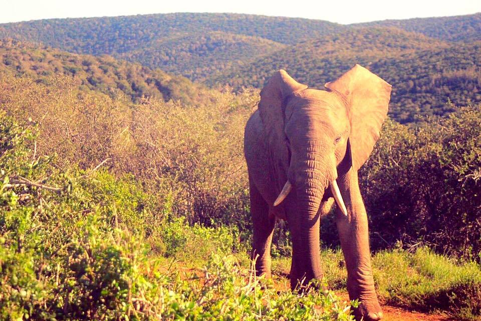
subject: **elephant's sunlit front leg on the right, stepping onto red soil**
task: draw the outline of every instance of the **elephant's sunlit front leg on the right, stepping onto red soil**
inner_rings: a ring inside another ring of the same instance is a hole
[[[336,223],[346,261],[349,297],[361,301],[354,311],[357,319],[379,320],[382,311],[374,289],[367,215],[359,191],[357,172],[351,169],[338,181],[348,210],[346,217],[336,209]]]

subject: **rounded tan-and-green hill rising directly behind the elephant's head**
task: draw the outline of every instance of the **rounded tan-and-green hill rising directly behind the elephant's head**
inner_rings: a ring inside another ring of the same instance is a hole
[[[358,59],[372,60],[445,46],[444,42],[395,28],[359,28],[290,46],[250,65],[214,75],[206,83],[262,87],[275,70],[284,68],[297,78],[310,80],[311,85],[320,87],[332,79],[319,79],[319,73],[331,78],[339,75],[337,64],[331,68],[329,62],[346,61],[349,65],[344,68],[350,68],[350,61]],[[250,78],[250,75],[255,77]]]

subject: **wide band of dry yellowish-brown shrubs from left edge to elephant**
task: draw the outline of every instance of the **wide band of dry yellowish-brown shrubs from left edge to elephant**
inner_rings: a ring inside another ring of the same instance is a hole
[[[54,85],[0,76],[0,103],[17,119],[39,123],[38,152],[57,153],[58,166],[106,165],[131,173],[158,195],[165,213],[190,223],[247,227],[245,123],[257,93],[210,92],[196,106],[143,99],[132,104],[82,92],[75,79]]]

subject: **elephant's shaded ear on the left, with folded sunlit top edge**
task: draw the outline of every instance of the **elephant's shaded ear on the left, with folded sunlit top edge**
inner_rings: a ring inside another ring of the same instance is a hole
[[[284,134],[283,103],[292,93],[306,88],[306,85],[298,83],[285,70],[281,69],[269,79],[261,91],[259,113],[266,131],[270,152],[274,159],[280,161],[280,164],[274,164],[276,171],[282,168],[284,173],[287,173],[289,168],[289,152]]]

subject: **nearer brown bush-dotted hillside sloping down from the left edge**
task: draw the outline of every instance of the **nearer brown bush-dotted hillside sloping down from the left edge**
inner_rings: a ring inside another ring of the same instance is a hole
[[[12,39],[0,40],[0,72],[32,77],[43,83],[58,75],[69,76],[81,90],[95,90],[112,97],[123,94],[132,101],[154,97],[192,103],[204,90],[187,78],[138,63],[107,55],[72,54]]]

